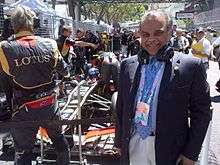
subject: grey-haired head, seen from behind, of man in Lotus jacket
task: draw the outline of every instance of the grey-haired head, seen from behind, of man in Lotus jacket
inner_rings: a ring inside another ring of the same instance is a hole
[[[11,25],[18,33],[21,30],[33,32],[34,18],[36,14],[26,6],[17,6],[11,14]]]

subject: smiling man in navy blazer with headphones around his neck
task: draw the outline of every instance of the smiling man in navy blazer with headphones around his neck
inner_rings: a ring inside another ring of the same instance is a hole
[[[141,51],[121,64],[115,149],[122,165],[193,165],[210,121],[201,59],[168,46],[172,20],[147,12]],[[188,122],[190,117],[190,125]]]

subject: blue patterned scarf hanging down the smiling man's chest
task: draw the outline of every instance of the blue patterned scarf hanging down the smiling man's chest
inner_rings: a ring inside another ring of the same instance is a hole
[[[136,109],[134,123],[136,131],[142,139],[147,138],[153,131],[152,126],[152,103],[157,86],[160,84],[160,76],[163,73],[164,63],[151,58],[149,64],[144,65],[137,92],[136,103],[144,102],[150,107],[149,112]]]

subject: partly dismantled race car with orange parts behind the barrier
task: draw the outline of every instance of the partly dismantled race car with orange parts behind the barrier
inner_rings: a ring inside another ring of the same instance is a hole
[[[68,97],[59,100],[59,113],[62,120],[74,121],[84,119],[84,123],[77,126],[63,125],[63,134],[71,147],[71,163],[99,163],[117,164],[117,155],[111,150],[114,144],[114,113],[117,93],[112,100],[98,94],[102,87],[97,82],[88,83],[82,80],[65,82]],[[100,118],[105,118],[100,123]],[[93,119],[93,123],[87,120]],[[98,123],[96,123],[99,120]],[[50,137],[44,128],[39,128],[33,150],[37,164],[51,164],[55,162],[56,154]],[[13,140],[8,136],[3,141],[3,152],[13,153]],[[113,163],[114,162],[114,163]]]

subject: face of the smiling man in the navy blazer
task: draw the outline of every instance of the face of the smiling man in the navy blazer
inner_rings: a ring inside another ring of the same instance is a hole
[[[171,30],[167,29],[166,18],[157,16],[156,18],[146,19],[140,25],[141,46],[150,55],[156,55],[171,38]]]

